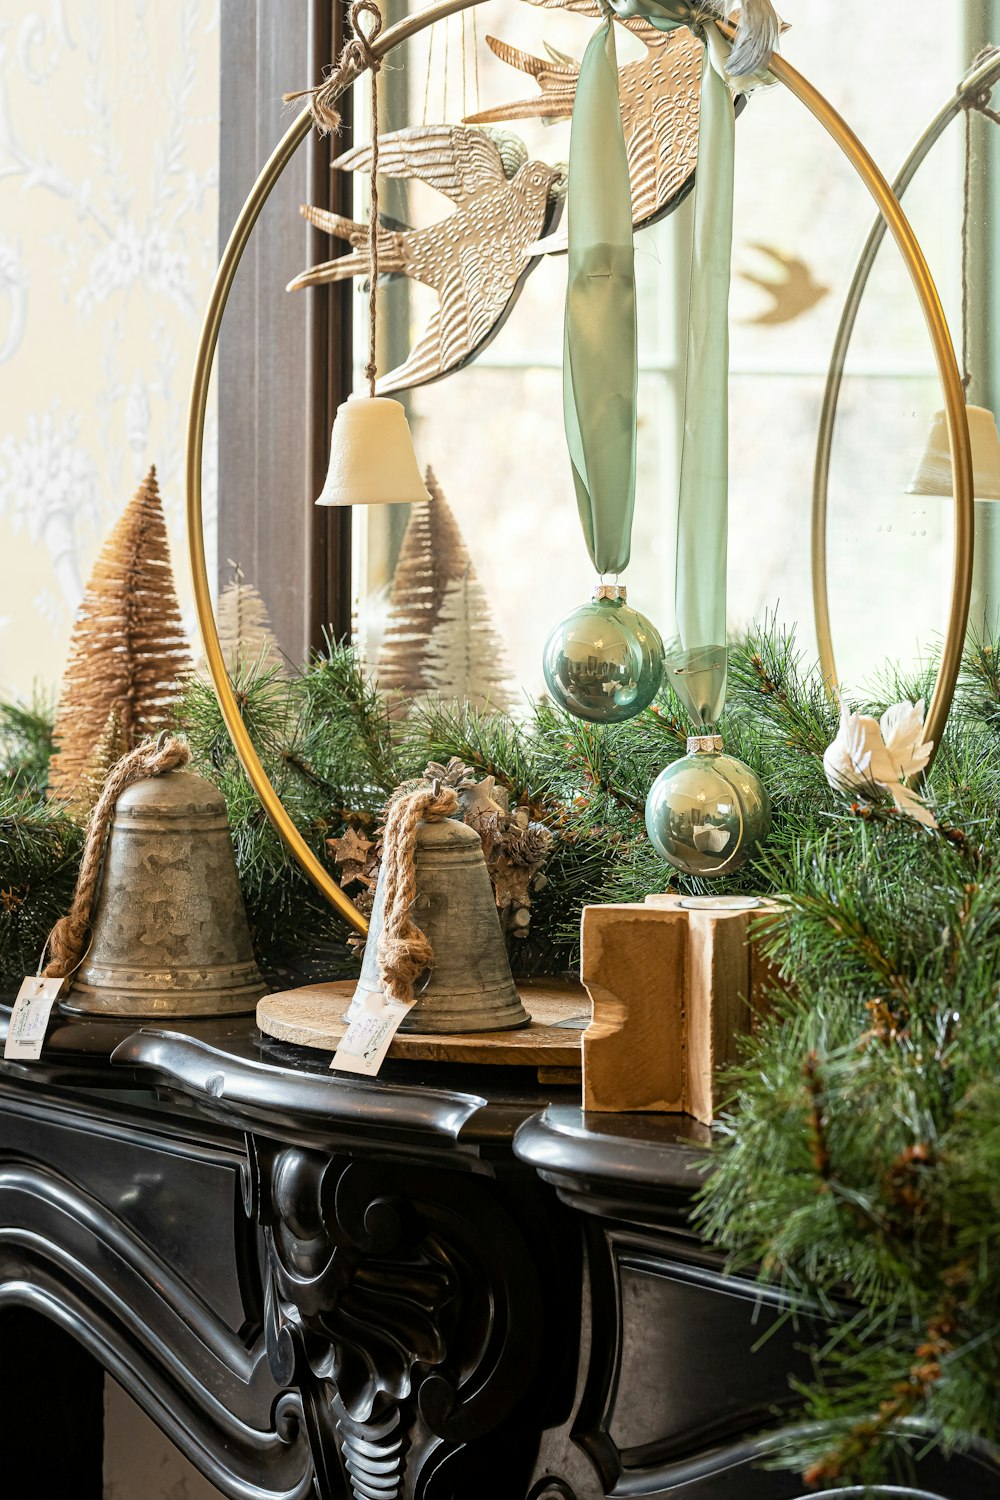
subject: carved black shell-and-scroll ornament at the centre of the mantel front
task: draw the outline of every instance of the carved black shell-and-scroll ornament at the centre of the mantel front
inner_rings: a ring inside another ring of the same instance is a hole
[[[250,1146],[268,1364],[301,1390],[321,1496],[445,1496],[450,1454],[504,1422],[538,1364],[520,1226],[471,1172]]]

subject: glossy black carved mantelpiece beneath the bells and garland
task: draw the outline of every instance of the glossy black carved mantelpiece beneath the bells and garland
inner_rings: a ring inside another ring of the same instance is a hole
[[[765,1340],[778,1294],[693,1233],[705,1131],[574,1101],[513,1070],[349,1080],[249,1018],[57,1018],[0,1065],[33,1492],[76,1443],[75,1500],[100,1494],[76,1352],[232,1500],[802,1497],[768,1460],[808,1329]],[[1000,1466],[931,1456],[880,1494],[1000,1500]]]

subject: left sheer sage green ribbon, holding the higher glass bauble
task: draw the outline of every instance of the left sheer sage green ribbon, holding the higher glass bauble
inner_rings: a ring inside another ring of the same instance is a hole
[[[562,411],[598,573],[628,562],[636,502],[636,270],[615,21],[589,42],[573,104]]]

